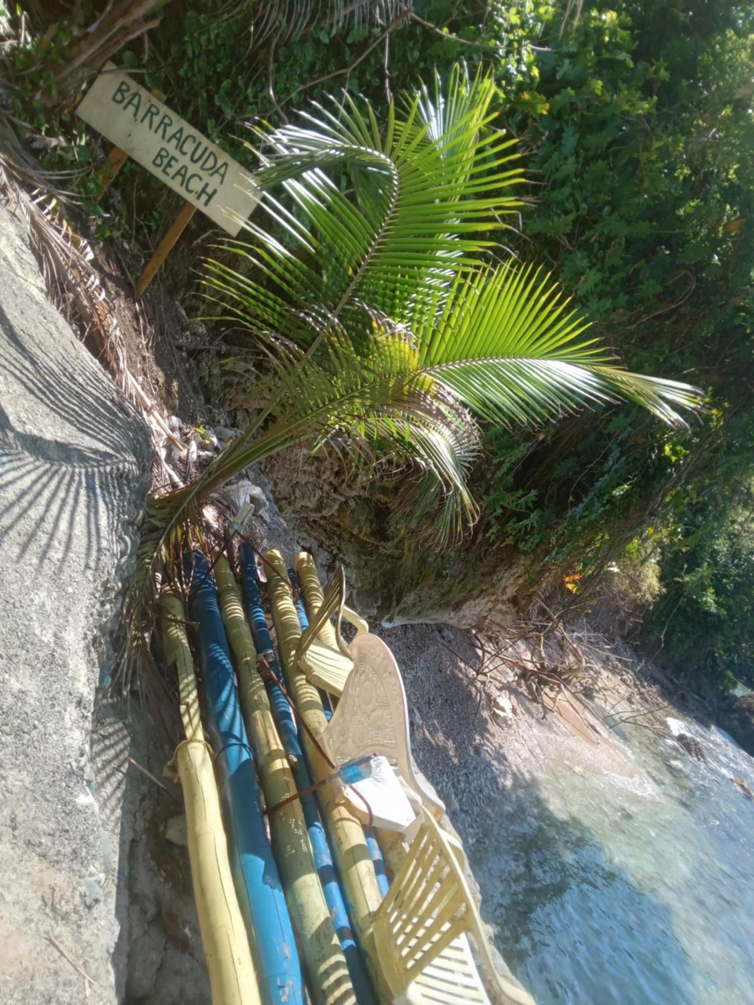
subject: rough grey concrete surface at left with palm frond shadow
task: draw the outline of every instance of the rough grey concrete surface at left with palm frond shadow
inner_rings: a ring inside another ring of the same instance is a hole
[[[116,717],[90,741],[149,438],[47,299],[12,205],[0,343],[0,1001],[115,1002],[129,735]]]

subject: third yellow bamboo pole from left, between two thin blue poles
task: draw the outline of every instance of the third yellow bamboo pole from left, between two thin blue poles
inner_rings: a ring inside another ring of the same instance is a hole
[[[301,626],[291,595],[291,584],[282,557],[277,551],[266,552],[264,556],[274,575],[268,576],[269,598],[277,635],[277,649],[284,674],[300,715],[315,737],[324,733],[327,727],[325,711],[317,687],[299,669],[296,658]],[[326,778],[332,772],[331,766],[312,743],[304,731],[304,747],[315,779]],[[372,915],[382,899],[372,858],[367,847],[364,831],[359,820],[343,803],[336,801],[331,786],[318,790],[323,814],[330,825],[333,851],[351,910],[351,920],[356,929],[359,945],[364,952],[373,986],[378,999],[392,1000],[377,957],[372,933]]]

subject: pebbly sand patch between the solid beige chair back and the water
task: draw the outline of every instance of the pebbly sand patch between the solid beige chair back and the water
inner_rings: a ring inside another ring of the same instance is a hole
[[[444,793],[451,819],[466,838],[484,830],[484,807],[493,794],[534,777],[550,759],[565,758],[585,770],[632,770],[588,708],[577,701],[599,732],[598,746],[530,698],[513,669],[480,671],[482,654],[472,633],[434,625],[378,630],[403,673],[416,759]],[[512,646],[509,655],[517,652],[530,654],[524,643]],[[621,682],[607,665],[601,678],[607,699]],[[503,724],[494,714],[499,694],[513,713]]]

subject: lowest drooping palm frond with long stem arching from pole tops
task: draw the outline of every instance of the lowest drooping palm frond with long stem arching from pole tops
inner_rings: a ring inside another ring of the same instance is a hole
[[[292,346],[270,353],[269,400],[257,420],[190,485],[149,500],[126,605],[127,682],[149,661],[156,574],[180,568],[182,552],[202,543],[203,506],[249,464],[300,443],[316,452],[337,439],[352,455],[371,458],[377,451],[393,468],[418,468],[425,490],[444,500],[440,537],[457,537],[476,519],[466,476],[479,447],[477,427],[454,400],[432,391],[415,351],[386,351],[395,340],[373,335],[361,355],[335,319],[321,334],[317,361]]]

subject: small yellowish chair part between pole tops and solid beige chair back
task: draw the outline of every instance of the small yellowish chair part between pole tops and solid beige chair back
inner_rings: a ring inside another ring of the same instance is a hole
[[[318,687],[324,687],[331,694],[339,695],[346,685],[346,680],[353,669],[351,651],[341,634],[343,618],[350,621],[357,635],[367,633],[369,625],[358,614],[346,606],[346,575],[343,566],[339,566],[335,576],[328,585],[322,605],[312,615],[309,627],[299,642],[299,666],[307,677]],[[336,614],[335,638],[337,648],[328,645],[320,636],[322,628],[333,614]]]

